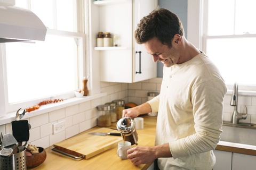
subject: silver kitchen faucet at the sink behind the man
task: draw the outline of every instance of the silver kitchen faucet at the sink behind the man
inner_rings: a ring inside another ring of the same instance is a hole
[[[237,104],[238,104],[238,84],[237,84],[237,82],[235,82],[234,87],[233,87],[233,94],[232,94],[231,101],[230,101],[230,105],[234,106],[234,112],[232,114],[232,119],[231,119],[231,122],[233,124],[238,124],[239,120],[246,119],[246,117],[247,117],[247,107],[245,106],[246,113],[238,113],[237,112]]]

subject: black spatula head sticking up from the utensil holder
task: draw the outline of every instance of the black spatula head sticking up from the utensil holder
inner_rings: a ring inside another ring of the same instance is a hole
[[[14,138],[22,143],[29,140],[29,124],[27,120],[13,121],[12,122],[12,134]]]

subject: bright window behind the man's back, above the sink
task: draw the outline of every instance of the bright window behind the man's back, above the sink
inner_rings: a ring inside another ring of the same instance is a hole
[[[203,2],[203,51],[218,66],[226,84],[255,85],[256,1]]]

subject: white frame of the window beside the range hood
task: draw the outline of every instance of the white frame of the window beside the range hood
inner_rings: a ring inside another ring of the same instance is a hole
[[[82,88],[82,79],[86,75],[90,75],[90,57],[89,54],[85,52],[88,50],[88,30],[85,29],[85,25],[88,24],[88,16],[84,16],[85,10],[88,10],[88,4],[84,3],[84,1],[75,1],[77,4],[77,32],[68,32],[62,30],[48,29],[46,35],[59,35],[59,36],[68,36],[74,37],[77,39],[76,43],[78,44],[78,79],[79,79],[79,88]],[[19,108],[28,108],[40,103],[43,100],[48,100],[47,98],[38,98],[36,100],[29,100],[21,103],[9,104],[8,101],[8,91],[7,91],[7,72],[6,72],[6,53],[5,53],[5,44],[0,44],[0,117],[6,116],[6,113],[17,111]],[[87,82],[87,86],[91,89],[91,81]],[[58,96],[54,96],[54,98],[73,98],[75,97],[74,91],[66,92],[65,94],[59,94]]]

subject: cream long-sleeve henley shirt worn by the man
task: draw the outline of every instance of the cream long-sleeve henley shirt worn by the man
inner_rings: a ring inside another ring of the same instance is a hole
[[[212,169],[222,132],[227,88],[205,53],[164,67],[160,94],[148,101],[158,111],[155,145],[169,143],[173,158],[158,158],[160,169]]]

